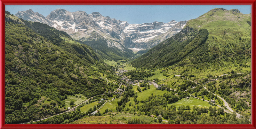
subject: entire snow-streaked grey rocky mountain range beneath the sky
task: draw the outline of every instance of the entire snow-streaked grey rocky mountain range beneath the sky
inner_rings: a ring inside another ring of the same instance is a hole
[[[104,17],[99,12],[87,14],[85,11],[69,12],[64,9],[56,9],[46,17],[31,9],[18,11],[15,16],[24,20],[45,23],[85,43],[99,41],[97,39],[99,37],[104,38],[101,41],[108,44],[108,47],[117,47],[121,51],[127,51],[127,48],[152,48],[178,33],[187,22],[172,20],[168,23],[129,24],[126,21]]]

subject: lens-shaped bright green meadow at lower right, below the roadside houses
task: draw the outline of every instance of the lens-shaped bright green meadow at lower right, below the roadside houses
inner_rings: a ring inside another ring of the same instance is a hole
[[[183,98],[183,99],[179,100],[178,102],[171,103],[168,105],[175,105],[176,107],[181,106],[181,105],[184,105],[184,106],[189,105],[190,108],[193,108],[193,106],[207,107],[207,108],[212,106],[212,105],[208,104],[208,102],[206,102],[206,101],[199,100],[199,99],[196,99],[193,97],[190,97],[189,99]]]

